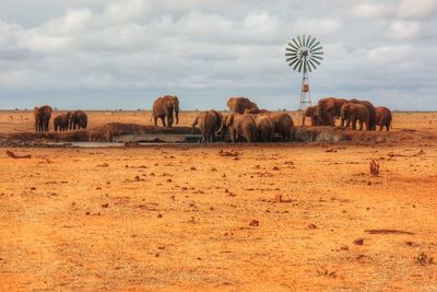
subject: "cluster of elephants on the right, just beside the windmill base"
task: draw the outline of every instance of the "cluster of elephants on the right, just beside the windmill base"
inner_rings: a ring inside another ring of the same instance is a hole
[[[335,117],[341,118],[341,127],[356,130],[356,124],[359,124],[359,130],[375,131],[377,127],[381,131],[387,131],[392,126],[392,115],[389,108],[385,106],[375,107],[368,101],[344,100],[327,97],[318,102],[317,105],[308,107],[304,113],[302,125],[305,125],[305,118],[311,119],[311,126],[334,126]]]

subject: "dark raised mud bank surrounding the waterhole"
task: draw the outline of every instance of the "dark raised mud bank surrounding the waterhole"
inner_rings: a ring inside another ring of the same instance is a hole
[[[78,142],[153,142],[172,143],[199,141],[199,130],[194,137],[191,127],[162,128],[137,124],[110,122],[90,130],[66,132],[13,132],[0,133],[0,147],[74,147]],[[437,137],[425,131],[353,131],[339,127],[300,127],[295,132],[294,142],[321,143],[427,143],[437,141]],[[282,141],[282,137],[274,137]],[[228,142],[228,139],[226,139]]]

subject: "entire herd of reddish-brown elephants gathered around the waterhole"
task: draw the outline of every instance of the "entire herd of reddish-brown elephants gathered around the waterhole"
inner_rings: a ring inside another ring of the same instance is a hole
[[[222,114],[217,110],[205,110],[198,114],[191,125],[192,132],[196,127],[202,133],[202,142],[213,141],[215,136],[224,139],[229,131],[233,142],[263,141],[269,142],[272,136],[277,133],[284,141],[294,138],[295,125],[292,117],[284,112],[272,113],[267,109],[260,109],[247,97],[229,97],[227,101],[229,114]],[[48,131],[52,109],[45,105],[34,108],[35,131]],[[179,100],[175,95],[165,95],[158,97],[153,103],[152,118],[157,126],[157,119],[161,119],[164,127],[172,127],[174,122],[179,122]],[[390,129],[392,116],[387,107],[375,107],[368,101],[344,100],[335,97],[322,98],[317,105],[308,107],[302,120],[305,125],[305,118],[309,117],[311,126],[334,126],[335,118],[341,119],[341,128],[356,129],[357,122],[359,130],[371,131],[379,127],[379,130]],[[67,131],[72,129],[86,129],[87,115],[82,110],[69,112],[58,115],[54,118],[55,131]]]

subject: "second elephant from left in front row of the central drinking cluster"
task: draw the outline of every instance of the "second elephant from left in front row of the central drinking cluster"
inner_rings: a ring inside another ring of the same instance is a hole
[[[239,137],[246,139],[247,142],[255,142],[257,140],[257,124],[255,117],[251,114],[229,114],[223,121],[222,127],[216,133],[225,135],[226,130],[229,129],[231,141],[237,142]]]

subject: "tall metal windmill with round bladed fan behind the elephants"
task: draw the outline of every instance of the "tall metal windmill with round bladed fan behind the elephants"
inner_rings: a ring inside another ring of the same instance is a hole
[[[298,35],[288,42],[285,48],[285,58],[288,66],[297,72],[302,72],[300,87],[300,109],[305,110],[311,105],[311,95],[309,91],[308,72],[316,70],[323,59],[323,47],[315,37]]]

